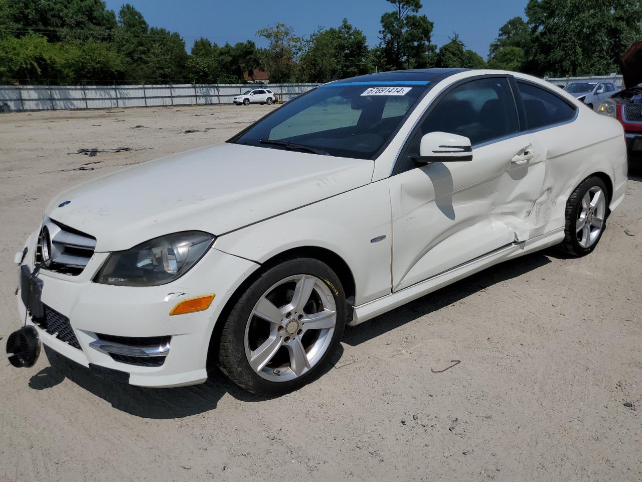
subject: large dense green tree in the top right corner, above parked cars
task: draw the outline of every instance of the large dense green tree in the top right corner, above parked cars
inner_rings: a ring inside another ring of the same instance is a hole
[[[604,75],[642,35],[639,0],[530,0],[528,69],[538,75]]]

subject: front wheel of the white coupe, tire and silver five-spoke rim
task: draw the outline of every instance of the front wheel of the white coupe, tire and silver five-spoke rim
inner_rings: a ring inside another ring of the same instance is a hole
[[[346,314],[341,281],[325,263],[287,258],[257,276],[221,320],[218,365],[257,395],[289,393],[324,373]]]

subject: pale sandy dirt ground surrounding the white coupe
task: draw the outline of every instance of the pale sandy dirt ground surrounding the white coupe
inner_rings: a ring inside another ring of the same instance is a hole
[[[0,115],[3,352],[20,325],[13,254],[55,193],[223,141],[268,109]],[[67,154],[117,147],[140,150]],[[55,353],[3,364],[0,480],[640,481],[641,244],[638,170],[590,256],[505,262],[351,328],[333,368],[281,398],[216,373],[121,386]]]

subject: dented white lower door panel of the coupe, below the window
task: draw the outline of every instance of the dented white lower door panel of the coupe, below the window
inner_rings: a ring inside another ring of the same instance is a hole
[[[532,159],[514,162],[529,146]],[[545,159],[539,141],[524,134],[474,148],[471,162],[393,176],[393,290],[526,240],[532,213],[542,210],[537,201],[546,198]]]

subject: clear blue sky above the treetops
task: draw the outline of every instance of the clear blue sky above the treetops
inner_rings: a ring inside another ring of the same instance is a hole
[[[107,7],[120,9],[122,0],[107,0]],[[129,0],[150,26],[177,31],[191,49],[194,40],[207,37],[217,44],[254,40],[265,46],[256,31],[282,22],[297,35],[309,35],[319,26],[340,25],[343,17],[376,45],[381,14],[390,10],[386,0]],[[421,13],[434,22],[433,43],[449,41],[453,31],[467,48],[486,58],[490,42],[508,19],[524,14],[527,0],[423,0]]]

